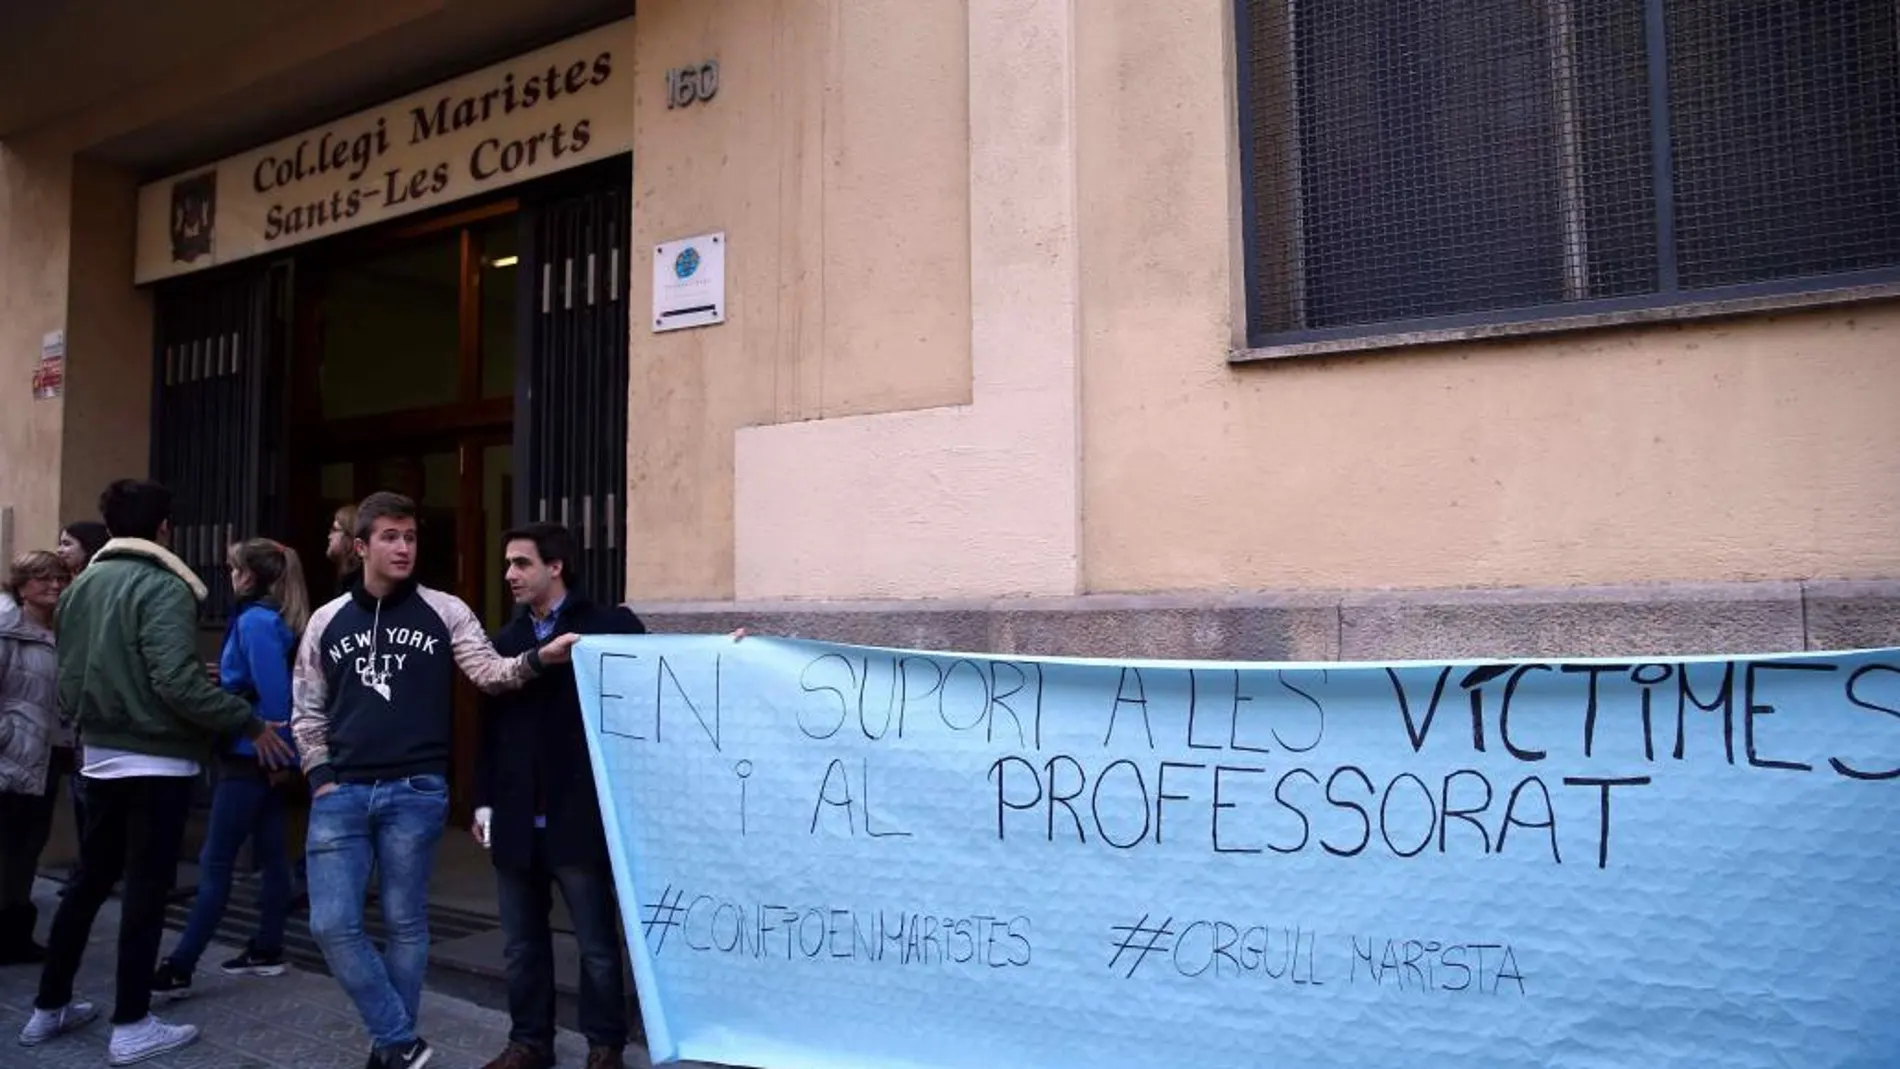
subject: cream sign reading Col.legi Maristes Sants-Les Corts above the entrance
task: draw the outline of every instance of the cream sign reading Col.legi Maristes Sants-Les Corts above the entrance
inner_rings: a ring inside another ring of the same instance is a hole
[[[135,281],[289,249],[633,150],[633,19],[139,190]]]

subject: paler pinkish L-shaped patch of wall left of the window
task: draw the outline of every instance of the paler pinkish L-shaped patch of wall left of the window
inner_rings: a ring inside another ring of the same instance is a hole
[[[741,431],[739,598],[1079,592],[1075,15],[967,6],[969,404]]]

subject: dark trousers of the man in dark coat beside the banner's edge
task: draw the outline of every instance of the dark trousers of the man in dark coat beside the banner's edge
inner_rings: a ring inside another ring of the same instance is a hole
[[[507,1039],[555,1048],[555,936],[547,923],[553,889],[574,917],[581,946],[580,1025],[589,1046],[627,1046],[627,985],[621,980],[614,870],[606,864],[549,866],[545,834],[534,834],[528,868],[496,868],[502,934],[507,942]]]

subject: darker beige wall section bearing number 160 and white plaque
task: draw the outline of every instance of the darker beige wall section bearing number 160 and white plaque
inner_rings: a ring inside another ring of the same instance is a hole
[[[726,325],[633,325],[636,596],[741,589],[758,545],[735,507],[743,427],[969,401],[967,27],[961,0],[640,6],[633,308],[652,306],[652,245],[711,230],[730,245]],[[718,95],[669,110],[665,68],[703,59]],[[754,516],[787,537],[836,530],[787,518]]]

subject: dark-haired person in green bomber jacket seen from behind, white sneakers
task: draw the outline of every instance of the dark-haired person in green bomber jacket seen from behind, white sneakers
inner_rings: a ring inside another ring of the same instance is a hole
[[[97,1010],[72,997],[93,917],[125,877],[110,1065],[131,1065],[198,1039],[196,1025],[152,1016],[152,968],[165,898],[200,761],[236,735],[276,767],[289,744],[218,689],[198,655],[205,585],[171,554],[171,492],[122,478],[99,497],[112,534],[59,600],[59,708],[86,737],[87,818],[80,875],[53,915],[40,995],[19,1042],[36,1046],[89,1023]]]

